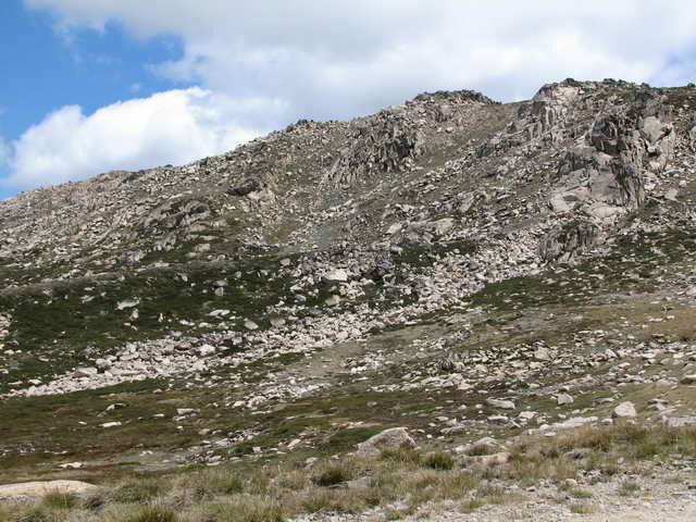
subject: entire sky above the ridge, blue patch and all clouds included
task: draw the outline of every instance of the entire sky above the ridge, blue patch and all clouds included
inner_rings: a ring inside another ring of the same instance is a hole
[[[695,78],[691,1],[0,0],[0,198],[423,90]]]

